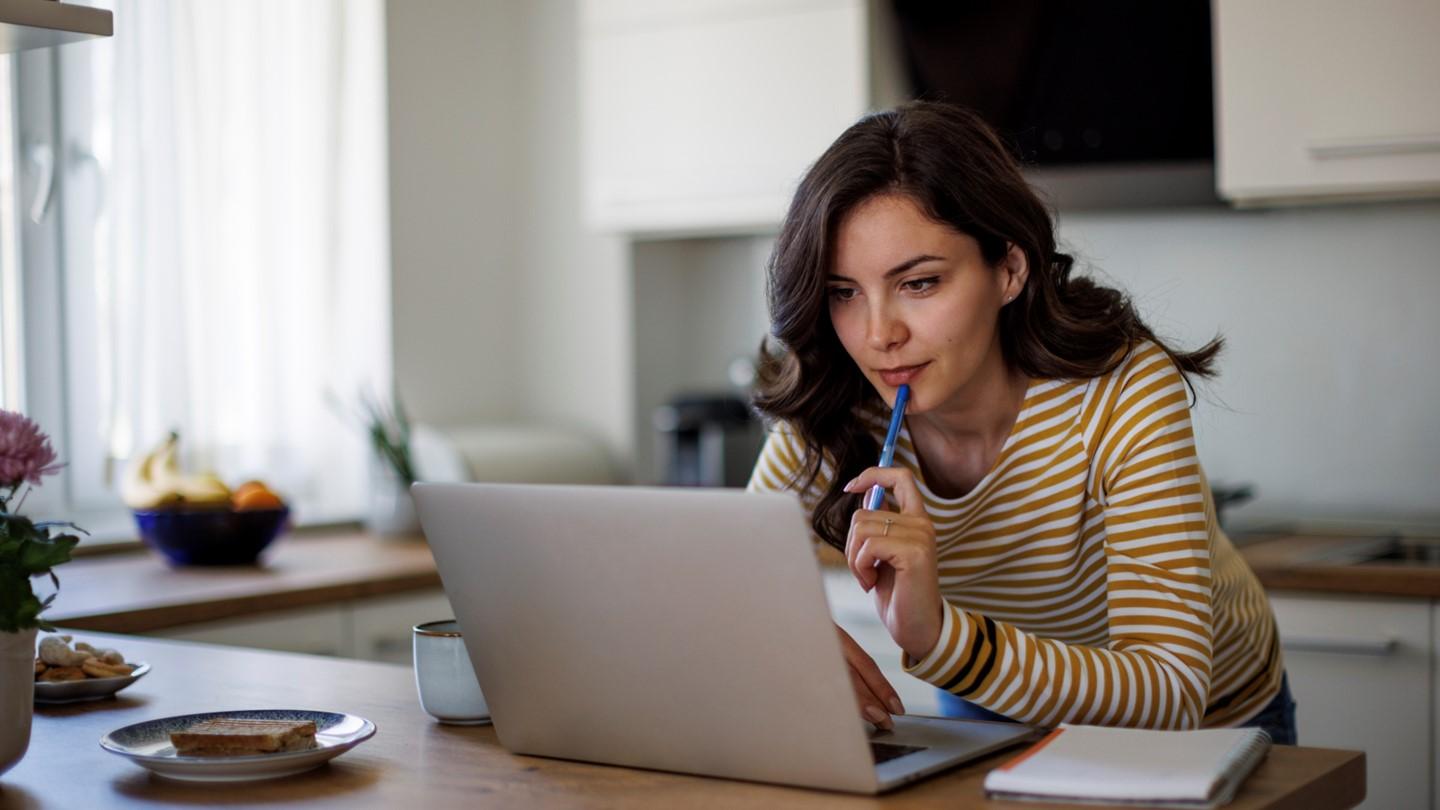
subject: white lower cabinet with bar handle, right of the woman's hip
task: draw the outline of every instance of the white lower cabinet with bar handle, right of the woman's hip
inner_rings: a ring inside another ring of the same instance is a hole
[[[1270,594],[1300,745],[1365,751],[1362,807],[1431,807],[1431,605]]]

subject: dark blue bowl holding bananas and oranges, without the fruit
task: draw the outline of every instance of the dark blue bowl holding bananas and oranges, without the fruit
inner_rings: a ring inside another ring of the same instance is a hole
[[[145,545],[171,565],[251,565],[285,530],[289,509],[137,510]]]

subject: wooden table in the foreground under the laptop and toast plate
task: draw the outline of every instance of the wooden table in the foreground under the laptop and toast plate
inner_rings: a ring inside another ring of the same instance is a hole
[[[99,633],[82,638],[148,662],[153,670],[111,700],[36,706],[30,751],[0,777],[0,809],[1074,807],[986,801],[981,780],[1014,751],[881,798],[516,757],[488,726],[431,721],[408,667]],[[166,781],[98,745],[102,734],[132,722],[264,708],[350,712],[374,721],[379,732],[320,770],[220,785]],[[1230,807],[1326,810],[1352,807],[1364,794],[1364,754],[1277,747]]]

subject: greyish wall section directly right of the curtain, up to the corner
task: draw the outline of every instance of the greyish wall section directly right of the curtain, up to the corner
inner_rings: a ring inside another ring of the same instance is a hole
[[[386,9],[395,379],[433,422],[510,419],[521,278],[524,4]]]

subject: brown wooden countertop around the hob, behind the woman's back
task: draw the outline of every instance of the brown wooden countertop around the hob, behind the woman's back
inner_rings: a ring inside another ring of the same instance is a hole
[[[1286,535],[1240,548],[1266,589],[1440,598],[1440,566],[1326,562],[1364,538]]]

